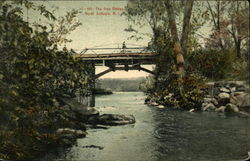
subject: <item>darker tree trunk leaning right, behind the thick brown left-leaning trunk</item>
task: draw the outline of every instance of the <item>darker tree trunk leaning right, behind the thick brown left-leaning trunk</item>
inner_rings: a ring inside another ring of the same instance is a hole
[[[186,0],[185,3],[185,13],[183,18],[183,27],[182,27],[182,37],[181,37],[181,47],[183,50],[183,55],[187,55],[187,42],[188,34],[190,31],[190,18],[192,14],[194,0]]]

